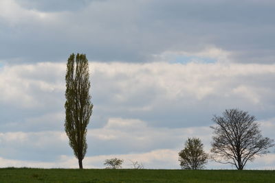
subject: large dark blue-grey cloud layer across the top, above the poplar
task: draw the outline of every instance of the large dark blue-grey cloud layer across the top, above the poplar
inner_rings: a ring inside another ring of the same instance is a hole
[[[74,7],[74,1],[67,4]],[[16,26],[5,18],[0,19],[1,60],[55,62],[76,51],[90,60],[147,62],[164,51],[214,45],[230,51],[235,62],[273,63],[274,7],[272,1],[118,0],[86,3],[80,11],[47,12],[45,19]]]

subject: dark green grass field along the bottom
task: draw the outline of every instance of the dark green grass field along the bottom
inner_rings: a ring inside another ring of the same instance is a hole
[[[275,182],[275,171],[5,168],[0,182]]]

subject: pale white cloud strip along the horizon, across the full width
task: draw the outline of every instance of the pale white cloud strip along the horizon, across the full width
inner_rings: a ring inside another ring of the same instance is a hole
[[[87,156],[83,160],[85,169],[103,169],[104,160],[120,158],[124,160],[122,168],[131,169],[131,161],[137,161],[144,165],[144,169],[180,169],[178,151],[173,149],[157,149],[144,154],[113,154],[109,156]],[[267,154],[256,158],[254,162],[248,162],[246,169],[274,170],[275,154]],[[38,167],[38,168],[78,168],[78,161],[73,156],[59,156],[55,162],[23,161],[0,158],[1,167]],[[255,166],[256,164],[256,166]],[[230,165],[217,164],[211,160],[206,164],[206,169],[235,169]]]

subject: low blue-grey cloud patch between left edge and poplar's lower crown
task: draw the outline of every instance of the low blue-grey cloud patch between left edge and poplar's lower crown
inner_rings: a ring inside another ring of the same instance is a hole
[[[47,162],[72,153],[60,132],[8,132],[1,133],[0,138],[0,156],[8,159]]]

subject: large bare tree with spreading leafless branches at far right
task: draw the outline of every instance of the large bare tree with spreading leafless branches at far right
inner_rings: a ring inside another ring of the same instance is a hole
[[[248,160],[267,154],[274,146],[274,140],[263,138],[256,118],[243,110],[230,109],[222,117],[214,115],[215,126],[212,137],[212,158],[223,164],[233,164],[242,170]]]

